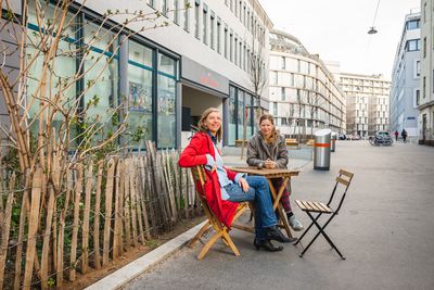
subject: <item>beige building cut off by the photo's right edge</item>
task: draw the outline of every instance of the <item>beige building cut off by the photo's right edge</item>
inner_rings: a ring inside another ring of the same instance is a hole
[[[419,142],[434,146],[434,1],[421,1]]]

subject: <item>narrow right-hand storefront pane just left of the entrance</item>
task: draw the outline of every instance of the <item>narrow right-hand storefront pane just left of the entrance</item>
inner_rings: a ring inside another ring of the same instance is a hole
[[[157,146],[176,147],[176,62],[158,53]]]

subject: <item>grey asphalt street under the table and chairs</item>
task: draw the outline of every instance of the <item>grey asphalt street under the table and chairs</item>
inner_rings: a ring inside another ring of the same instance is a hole
[[[253,236],[234,229],[240,257],[221,241],[203,261],[196,260],[200,244],[183,248],[125,289],[434,289],[433,164],[432,147],[339,141],[330,172],[314,171],[312,163],[303,167],[292,181],[292,200],[327,202],[339,169],[355,174],[340,215],[326,230],[346,261],[323,237],[299,259],[299,244],[284,244],[279,253],[256,251]],[[306,228],[309,218],[293,201],[292,206]]]

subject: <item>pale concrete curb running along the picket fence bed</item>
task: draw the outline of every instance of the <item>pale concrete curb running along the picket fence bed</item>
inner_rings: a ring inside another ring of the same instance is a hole
[[[144,272],[149,270],[163,260],[167,259],[169,255],[174,254],[180,250],[189,240],[191,240],[197,230],[205,225],[206,220],[196,225],[195,227],[189,229],[188,231],[179,235],[175,239],[162,244],[155,250],[144,254],[143,256],[132,261],[128,265],[122,267],[120,269],[110,274],[103,279],[92,283],[87,290],[99,290],[99,289],[119,289],[127,282],[137,278]]]

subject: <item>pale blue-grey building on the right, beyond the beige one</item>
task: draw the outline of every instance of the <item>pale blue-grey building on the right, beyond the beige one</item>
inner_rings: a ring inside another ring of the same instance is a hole
[[[391,131],[406,129],[409,138],[419,136],[420,49],[420,13],[408,14],[396,49],[390,102]]]

